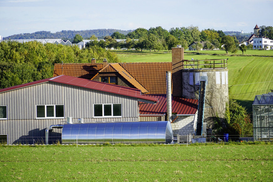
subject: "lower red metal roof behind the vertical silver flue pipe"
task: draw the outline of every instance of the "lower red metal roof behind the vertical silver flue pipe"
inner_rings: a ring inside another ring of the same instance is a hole
[[[140,115],[165,115],[167,113],[167,99],[165,94],[146,94],[158,99],[157,104],[140,104]],[[172,112],[181,115],[193,115],[198,109],[197,99],[186,99],[172,96]]]

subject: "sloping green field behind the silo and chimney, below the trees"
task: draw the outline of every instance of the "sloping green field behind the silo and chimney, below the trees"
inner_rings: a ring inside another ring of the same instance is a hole
[[[117,51],[121,62],[171,62],[172,53]],[[217,55],[212,55],[217,54]],[[184,59],[227,59],[229,69],[230,94],[240,104],[252,112],[255,95],[266,94],[273,89],[273,51],[247,50],[242,56],[238,51],[236,56],[220,51],[185,51]],[[255,55],[255,56],[252,56]]]

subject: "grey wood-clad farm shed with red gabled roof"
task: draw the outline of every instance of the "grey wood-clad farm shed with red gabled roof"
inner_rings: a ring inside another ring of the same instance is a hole
[[[138,103],[155,104],[134,88],[57,76],[0,90],[0,137],[8,144],[44,142],[45,129],[73,122],[135,122]],[[49,143],[61,140],[61,129]]]

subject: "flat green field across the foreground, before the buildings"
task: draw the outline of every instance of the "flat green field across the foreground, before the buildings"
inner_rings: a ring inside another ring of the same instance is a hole
[[[271,143],[0,146],[1,181],[272,181]]]

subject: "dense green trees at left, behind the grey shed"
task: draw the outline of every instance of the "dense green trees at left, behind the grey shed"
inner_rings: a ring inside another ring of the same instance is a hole
[[[55,63],[118,62],[116,53],[100,47],[80,49],[37,41],[0,43],[0,89],[53,77]]]

